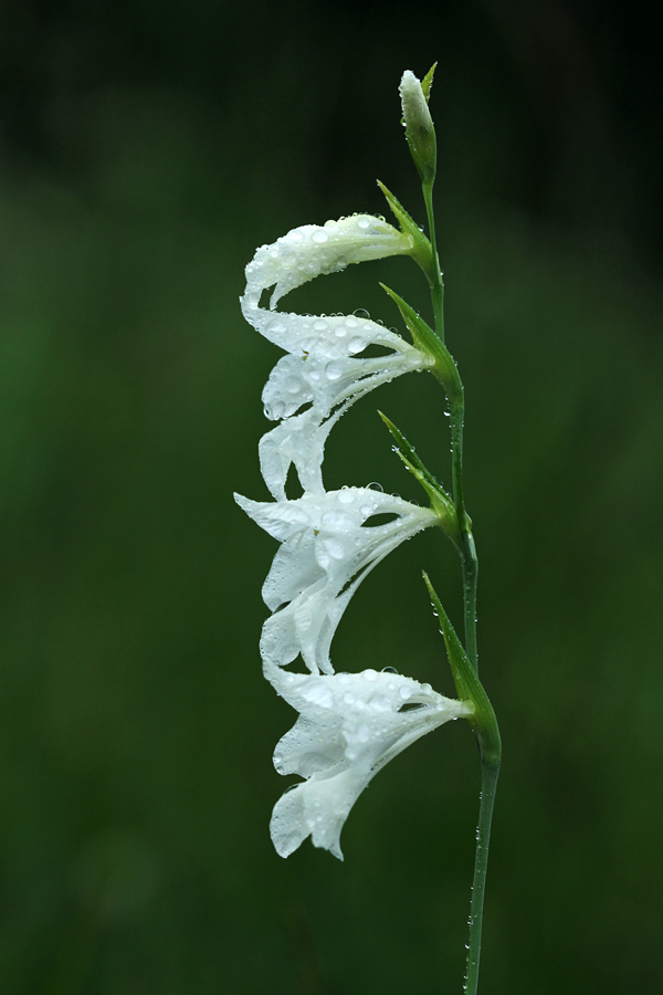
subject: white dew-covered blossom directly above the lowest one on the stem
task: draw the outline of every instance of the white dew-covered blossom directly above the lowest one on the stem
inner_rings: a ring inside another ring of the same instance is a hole
[[[312,673],[333,673],[332,638],[366,575],[404,540],[439,522],[430,509],[369,488],[272,502],[235,494],[235,501],[282,543],[262,590],[274,612],[263,627],[263,660],[284,667],[301,653]],[[385,514],[392,520],[370,525]]]

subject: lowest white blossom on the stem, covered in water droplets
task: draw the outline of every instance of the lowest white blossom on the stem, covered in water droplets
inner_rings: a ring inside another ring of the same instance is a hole
[[[311,836],[343,860],[340,830],[370,779],[410,743],[473,711],[400,673],[316,677],[266,666],[265,675],[301,713],[277,744],[274,766],[307,778],[274,807],[270,831],[282,857]]]

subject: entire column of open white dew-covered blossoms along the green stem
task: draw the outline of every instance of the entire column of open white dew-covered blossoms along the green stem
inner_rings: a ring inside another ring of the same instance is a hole
[[[467,702],[443,698],[398,673],[335,673],[329,659],[336,627],[361,580],[400,543],[439,524],[440,517],[369,488],[325,491],[327,436],[358,398],[401,374],[431,368],[433,359],[369,318],[274,310],[285,294],[315,276],[349,263],[412,253],[410,235],[380,218],[355,214],[296,228],[260,248],[246,266],[244,317],[287,354],[263,391],[266,417],[280,422],[259,448],[274,500],[235,495],[281,543],[263,586],[273,614],[263,627],[261,656],[265,677],[301,713],[278,743],[274,764],[281,774],[305,778],[274,808],[272,839],[284,857],[312,836],[315,846],[341,858],[340,830],[371,777],[420,736],[472,712]],[[270,307],[264,307],[262,294],[272,286]],[[385,355],[362,357],[371,345],[382,346]],[[286,495],[292,467],[303,490],[296,499]],[[376,516],[380,523],[371,524]],[[299,656],[308,673],[284,669]]]

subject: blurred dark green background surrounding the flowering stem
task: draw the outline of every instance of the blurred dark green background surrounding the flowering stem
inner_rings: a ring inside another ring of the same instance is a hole
[[[648,21],[649,18],[649,21]],[[655,8],[570,0],[6,0],[0,13],[0,991],[460,992],[477,808],[457,723],[354,810],[345,863],[267,835],[294,719],[262,679],[274,543],[243,266],[290,228],[419,218],[403,69],[433,112],[466,388],[480,650],[504,767],[483,991],[655,995],[663,373]],[[293,310],[428,307],[407,260]],[[371,395],[329,486],[421,500],[376,408],[449,479],[432,378]],[[360,588],[337,669],[452,692],[424,534]]]

